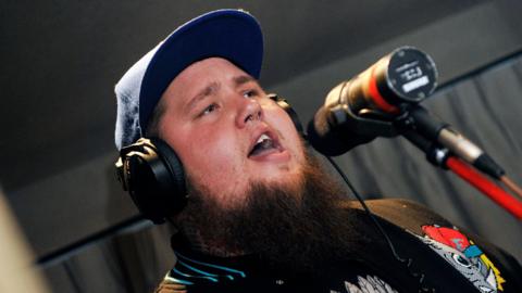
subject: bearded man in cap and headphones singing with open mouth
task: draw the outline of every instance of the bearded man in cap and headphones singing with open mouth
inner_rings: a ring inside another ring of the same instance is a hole
[[[126,188],[179,230],[159,292],[522,292],[514,258],[425,207],[346,201],[258,84],[261,59],[257,21],[214,11],[116,85]]]

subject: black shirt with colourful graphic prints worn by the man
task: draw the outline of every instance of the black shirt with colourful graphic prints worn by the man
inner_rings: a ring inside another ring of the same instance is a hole
[[[462,232],[418,204],[368,201],[396,249],[398,260],[357,203],[366,245],[352,257],[312,272],[268,266],[257,255],[213,257],[173,241],[177,256],[164,282],[179,292],[522,292],[522,267],[509,254]]]

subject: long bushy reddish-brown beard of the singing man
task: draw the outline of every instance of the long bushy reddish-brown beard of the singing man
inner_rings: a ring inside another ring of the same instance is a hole
[[[309,154],[297,182],[251,182],[244,204],[233,209],[220,208],[210,190],[189,184],[187,206],[174,222],[201,252],[250,253],[274,268],[306,272],[363,245],[358,214],[339,205],[345,193]]]

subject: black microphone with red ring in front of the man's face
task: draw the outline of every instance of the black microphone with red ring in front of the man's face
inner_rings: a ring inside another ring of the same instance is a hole
[[[433,60],[413,47],[400,47],[327,94],[308,125],[310,144],[336,156],[376,137],[394,137],[394,118],[436,88]]]

